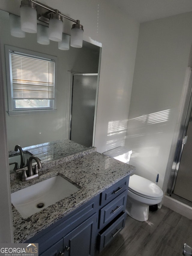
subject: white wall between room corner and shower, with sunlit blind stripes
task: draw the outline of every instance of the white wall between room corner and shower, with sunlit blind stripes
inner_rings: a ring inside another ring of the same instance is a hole
[[[140,25],[126,146],[162,188],[192,43],[192,12]]]

